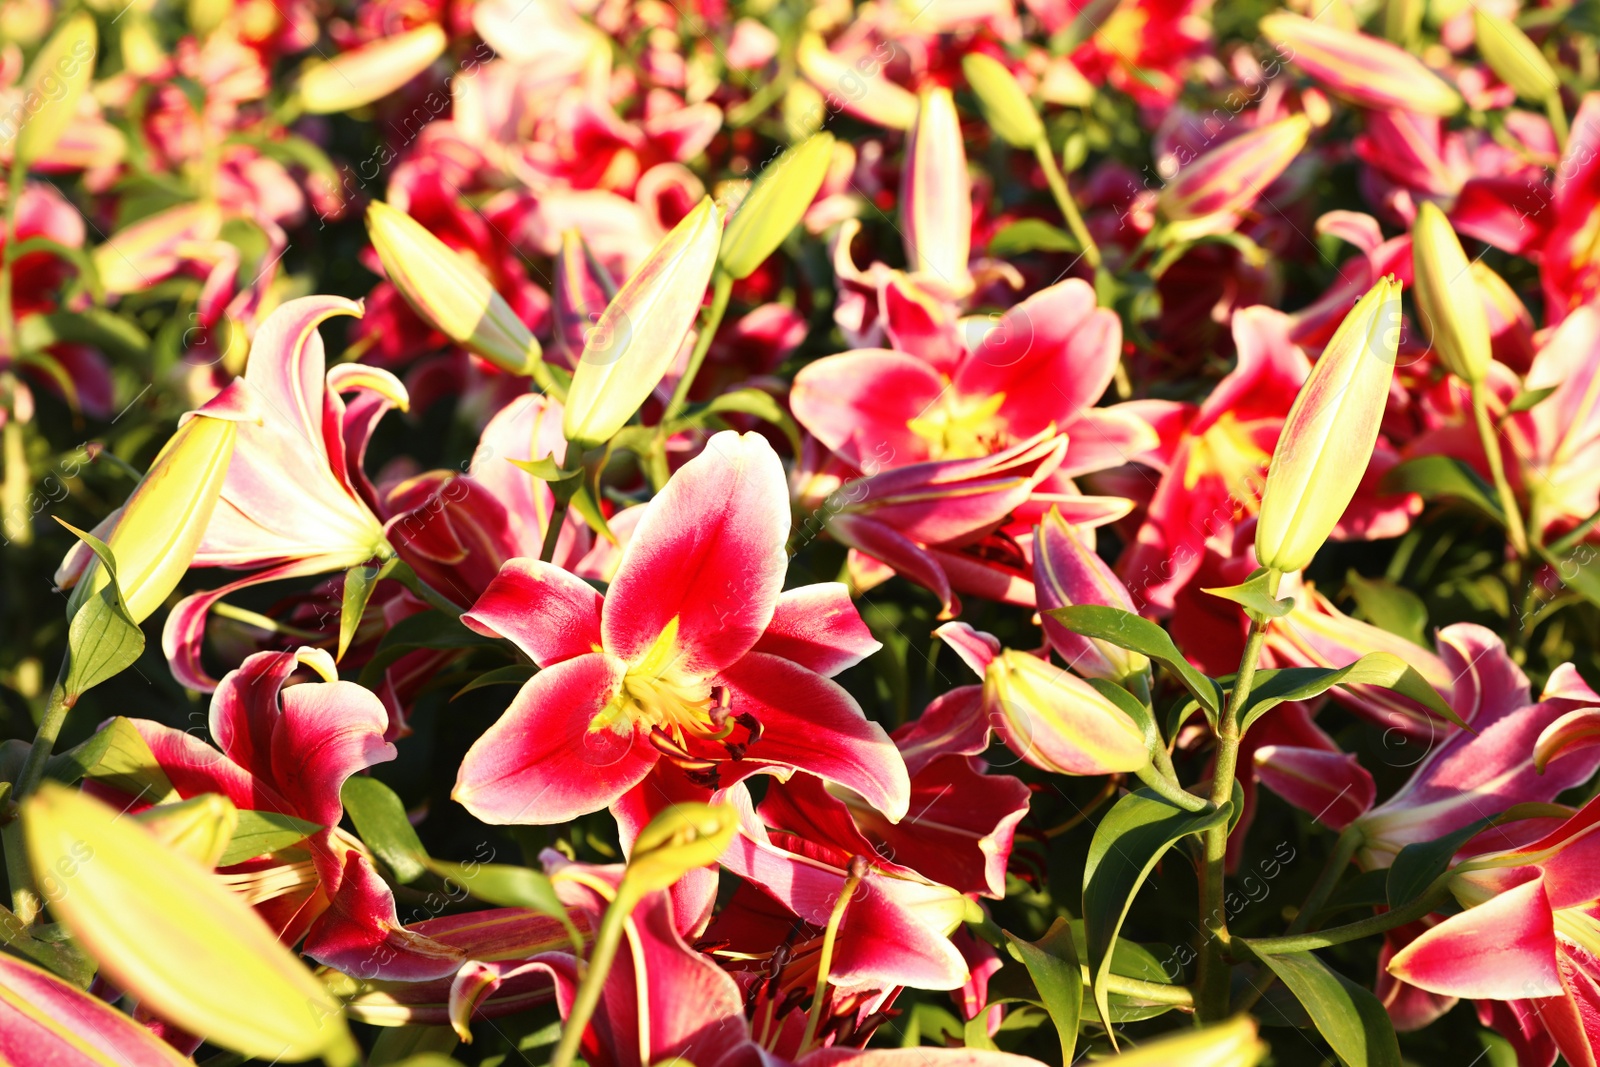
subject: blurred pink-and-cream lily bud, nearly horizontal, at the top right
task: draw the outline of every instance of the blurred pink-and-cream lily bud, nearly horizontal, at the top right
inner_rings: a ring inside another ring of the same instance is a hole
[[[1342,30],[1291,11],[1261,19],[1274,45],[1293,51],[1293,62],[1334,94],[1373,109],[1416,115],[1454,115],[1461,94],[1411,53],[1378,37]]]

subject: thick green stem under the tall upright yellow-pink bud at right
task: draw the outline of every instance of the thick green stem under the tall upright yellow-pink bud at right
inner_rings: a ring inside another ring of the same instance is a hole
[[[1277,590],[1274,590],[1277,592]],[[1238,769],[1238,718],[1256,683],[1261,646],[1267,638],[1264,621],[1251,619],[1245,654],[1227,707],[1216,721],[1216,769],[1211,774],[1211,803],[1218,808],[1234,798],[1234,776]],[[1227,1016],[1227,901],[1224,865],[1227,862],[1227,821],[1205,832],[1205,869],[1200,878],[1200,974],[1195,982],[1195,1006],[1202,1022]]]

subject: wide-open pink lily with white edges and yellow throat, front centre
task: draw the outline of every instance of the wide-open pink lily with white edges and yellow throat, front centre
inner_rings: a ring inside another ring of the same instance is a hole
[[[541,670],[467,752],[456,800],[485,822],[565,822],[666,758],[706,785],[805,769],[904,816],[888,734],[808,665],[827,635],[854,648],[859,616],[842,590],[782,592],[787,536],[778,454],[728,430],[650,502],[605,597],[509,561],[462,621]]]

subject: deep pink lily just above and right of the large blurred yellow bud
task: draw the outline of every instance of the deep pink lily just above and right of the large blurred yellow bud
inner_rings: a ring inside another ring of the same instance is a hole
[[[323,681],[286,685],[302,665]],[[400,926],[365,846],[339,829],[346,779],[397,753],[384,741],[389,713],[382,702],[336,678],[333,657],[322,649],[250,656],[211,697],[210,729],[221,750],[182,729],[131,723],[178,797],[221,793],[243,811],[318,827],[301,845],[218,872],[285,944],[304,939],[306,955],[365,977],[448,974],[462,955]]]

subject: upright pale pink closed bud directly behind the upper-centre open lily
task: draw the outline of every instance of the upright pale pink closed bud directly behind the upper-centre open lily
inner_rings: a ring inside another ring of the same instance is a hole
[[[952,290],[970,285],[973,189],[950,90],[925,91],[917,107],[901,173],[901,227],[914,272]]]

